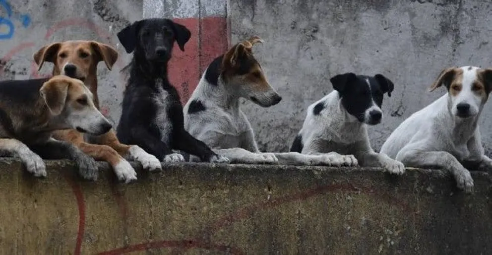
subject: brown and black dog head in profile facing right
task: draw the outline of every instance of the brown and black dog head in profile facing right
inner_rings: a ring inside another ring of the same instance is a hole
[[[254,44],[262,42],[261,38],[253,36],[234,45],[224,55],[221,74],[226,86],[239,93],[238,96],[259,106],[269,107],[278,104],[282,97],[270,86],[261,65],[251,52]]]

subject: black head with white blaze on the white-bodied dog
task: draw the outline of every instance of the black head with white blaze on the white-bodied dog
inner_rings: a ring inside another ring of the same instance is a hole
[[[382,74],[371,77],[349,72],[335,75],[330,81],[340,94],[342,105],[349,114],[369,125],[381,122],[383,95],[388,93],[391,96],[393,91],[391,80]]]

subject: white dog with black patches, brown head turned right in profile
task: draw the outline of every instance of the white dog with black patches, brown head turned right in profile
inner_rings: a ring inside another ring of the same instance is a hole
[[[341,160],[332,154],[260,153],[239,100],[246,98],[269,107],[282,99],[251,53],[252,46],[261,42],[254,36],[238,43],[207,67],[184,106],[186,131],[234,163],[339,166],[346,162],[356,165],[355,159]]]

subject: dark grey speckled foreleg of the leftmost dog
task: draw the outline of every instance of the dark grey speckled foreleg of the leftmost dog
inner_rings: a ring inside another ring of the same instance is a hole
[[[75,161],[80,176],[87,180],[97,180],[97,162],[70,142],[50,138],[48,142],[31,148],[46,159],[71,159]]]

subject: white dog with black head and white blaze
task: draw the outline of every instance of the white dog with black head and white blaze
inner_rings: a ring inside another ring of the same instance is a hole
[[[391,96],[393,82],[382,74],[371,77],[351,72],[335,75],[330,82],[334,90],[308,107],[291,151],[307,155],[335,153],[342,160],[353,155],[361,166],[403,174],[402,163],[374,152],[367,130],[368,125],[381,122],[383,95]]]

